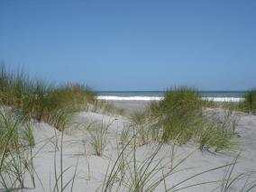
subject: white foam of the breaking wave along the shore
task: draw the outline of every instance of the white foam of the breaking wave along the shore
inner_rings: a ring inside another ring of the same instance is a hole
[[[97,96],[99,100],[118,100],[118,101],[160,101],[162,96]],[[203,100],[215,102],[239,102],[241,97],[203,97]]]

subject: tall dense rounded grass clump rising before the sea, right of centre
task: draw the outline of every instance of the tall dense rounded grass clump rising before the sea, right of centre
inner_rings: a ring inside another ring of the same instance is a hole
[[[163,127],[163,142],[177,138],[180,143],[191,139],[202,114],[202,100],[198,92],[188,87],[177,87],[165,93],[159,105],[151,106],[151,113],[158,117]]]

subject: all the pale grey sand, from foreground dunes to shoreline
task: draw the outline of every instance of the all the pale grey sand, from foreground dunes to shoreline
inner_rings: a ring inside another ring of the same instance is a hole
[[[148,105],[145,101],[112,101],[112,104],[126,109],[129,113],[143,110]],[[224,110],[206,109],[206,113],[223,115]],[[142,169],[143,174],[149,174],[151,177],[147,185],[170,171],[172,173],[153,191],[165,191],[166,187],[172,188],[172,191],[181,188],[183,188],[182,191],[195,192],[214,189],[222,191],[224,173],[231,170],[232,165],[229,164],[238,158],[232,171],[232,177],[246,174],[235,183],[231,191],[241,191],[245,182],[250,183],[255,179],[255,174],[252,173],[256,169],[256,116],[238,112],[236,115],[239,120],[237,136],[234,141],[239,144],[233,151],[200,151],[197,143],[193,142],[184,145],[169,142],[161,146],[158,142],[151,142],[137,146],[138,164],[136,166],[138,169]],[[118,142],[117,139],[118,135],[120,136],[123,130],[129,126],[130,120],[127,116],[122,115],[79,112],[74,115],[73,121],[73,125],[64,132],[62,142],[61,133],[49,124],[33,123],[33,135],[36,142],[33,149],[33,163],[38,179],[36,179],[34,189],[25,188],[23,191],[50,191],[50,189],[56,188],[56,178],[59,178],[63,170],[65,172],[61,175],[62,185],[74,182],[74,185],[68,185],[64,191],[70,191],[71,188],[78,192],[104,190],[105,177],[111,172],[115,160],[119,158],[118,154],[120,153],[118,152],[122,149],[120,141]],[[90,123],[109,124],[105,151],[102,156],[97,156],[90,145],[90,136],[87,133],[87,126]],[[60,146],[62,151],[60,151]],[[149,168],[143,169],[143,160],[151,157],[156,150],[157,154],[152,164]],[[125,150],[125,160],[127,160],[126,163],[131,163],[131,167],[130,170],[125,169],[123,173],[123,182],[128,186],[133,183],[134,176],[133,169],[131,169],[133,168],[132,153],[133,148],[128,146]],[[159,167],[162,168],[161,171],[157,171]],[[154,172],[154,175],[150,175],[151,171]],[[204,171],[206,172],[204,173]],[[120,177],[117,178],[121,179]],[[72,180],[73,178],[74,180]],[[248,180],[246,180],[247,178]],[[60,185],[60,178],[57,183]],[[119,186],[118,179],[114,181],[110,191],[115,191],[119,187],[124,191],[129,191],[129,187]]]

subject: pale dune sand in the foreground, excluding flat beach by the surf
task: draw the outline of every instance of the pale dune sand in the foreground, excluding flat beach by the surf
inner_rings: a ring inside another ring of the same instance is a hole
[[[241,151],[241,157],[233,172],[234,175],[256,170],[256,116],[251,114],[239,114],[240,120],[238,122],[237,132],[240,137],[237,141],[241,144],[240,150],[237,151],[223,151],[221,153],[211,153],[208,151],[202,152],[197,150],[195,144],[187,144],[175,147],[174,164],[178,163],[188,154],[191,155],[185,160],[176,170],[180,172],[173,174],[167,178],[167,187],[172,187],[179,181],[193,176],[206,169],[212,169],[218,166],[225,165],[231,162],[236,155]],[[92,151],[89,145],[89,137],[86,131],[86,126],[93,122],[111,123],[108,129],[108,144],[104,155],[98,157]],[[117,157],[116,149],[116,135],[122,132],[122,129],[129,124],[128,119],[122,116],[112,116],[106,114],[95,113],[78,113],[75,115],[73,126],[70,127],[63,136],[63,169],[69,168],[63,174],[63,186],[69,182],[74,176],[75,167],[78,163],[77,174],[74,183],[73,191],[96,191],[97,188],[103,185],[106,169],[108,164],[111,165]],[[34,123],[34,136],[36,146],[33,150],[34,166],[38,177],[36,179],[36,188],[28,191],[53,191],[55,185],[55,176],[60,174],[60,138],[61,133],[46,123]],[[56,144],[58,143],[58,148]],[[151,154],[157,148],[156,143],[144,145],[138,148],[137,158],[142,160],[144,157]],[[165,144],[160,149],[155,160],[162,160],[162,164],[166,164],[167,168],[164,171],[169,171],[171,167],[170,161],[171,145]],[[56,163],[57,174],[54,170],[54,161]],[[158,161],[156,161],[158,163]],[[211,171],[197,178],[188,180],[184,185],[175,187],[178,189],[187,185],[197,184],[199,182],[213,181],[222,179],[225,169],[217,169]],[[161,172],[157,177],[161,177]],[[255,178],[254,176],[251,176]],[[129,176],[127,176],[129,178]],[[244,180],[238,182],[232,191],[239,191],[242,188]],[[43,187],[44,188],[43,188]],[[59,182],[60,186],[60,182]],[[190,187],[184,191],[211,191],[218,184],[207,184],[199,187]],[[71,183],[65,191],[70,191]],[[164,191],[161,185],[156,191]],[[220,191],[220,188],[217,188]]]

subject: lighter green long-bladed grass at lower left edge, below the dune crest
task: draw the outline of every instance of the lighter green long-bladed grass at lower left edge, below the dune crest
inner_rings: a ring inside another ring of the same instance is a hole
[[[5,109],[0,112],[0,188],[13,191],[25,186],[25,175],[34,182],[32,147],[34,140],[30,123],[23,123]]]

